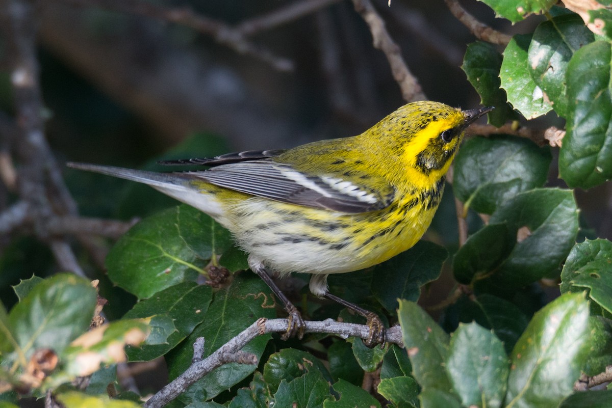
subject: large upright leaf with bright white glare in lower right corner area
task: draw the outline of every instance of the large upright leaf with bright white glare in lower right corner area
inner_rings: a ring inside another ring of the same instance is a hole
[[[587,359],[589,306],[564,294],[535,313],[511,360],[506,403],[515,408],[556,408],[573,391]]]

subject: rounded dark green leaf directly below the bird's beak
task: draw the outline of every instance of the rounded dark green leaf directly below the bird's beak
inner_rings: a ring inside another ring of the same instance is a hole
[[[523,137],[474,137],[457,153],[453,191],[466,208],[493,214],[518,193],[542,187],[550,162],[549,148]]]

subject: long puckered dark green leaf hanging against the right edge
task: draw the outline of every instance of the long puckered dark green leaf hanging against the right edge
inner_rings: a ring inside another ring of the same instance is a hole
[[[597,41],[578,49],[567,67],[573,101],[559,151],[559,174],[568,186],[591,188],[612,178],[612,51]]]

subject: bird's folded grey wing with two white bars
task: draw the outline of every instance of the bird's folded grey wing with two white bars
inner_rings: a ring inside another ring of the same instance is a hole
[[[366,184],[359,175],[349,181],[341,173],[307,174],[272,159],[234,162],[184,174],[266,199],[348,214],[385,208],[395,194],[386,181],[372,180],[369,175]]]

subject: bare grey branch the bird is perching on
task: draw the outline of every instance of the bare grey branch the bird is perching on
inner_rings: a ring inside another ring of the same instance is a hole
[[[347,338],[350,336],[356,336],[360,338],[367,338],[369,329],[367,326],[362,324],[353,323],[341,323],[332,319],[326,319],[324,321],[307,321],[306,332],[310,333],[330,333],[339,335],[340,337]],[[236,337],[232,338],[227,343],[223,344],[206,359],[200,360],[201,349],[198,344],[197,348],[194,346],[194,359],[195,362],[177,377],[173,382],[166,385],[158,393],[152,396],[146,403],[145,408],[161,408],[166,404],[170,403],[179,394],[187,390],[187,388],[206,374],[218,366],[222,366],[227,362],[238,362],[245,364],[256,364],[257,359],[253,359],[252,354],[245,354],[240,350],[253,338],[264,335],[266,333],[282,333],[287,330],[286,319],[273,319],[266,320],[264,318],[258,319],[247,329],[243,330]],[[401,342],[401,329],[399,326],[391,327],[387,329],[386,333],[387,343],[403,344]],[[197,343],[197,341],[196,341]]]

